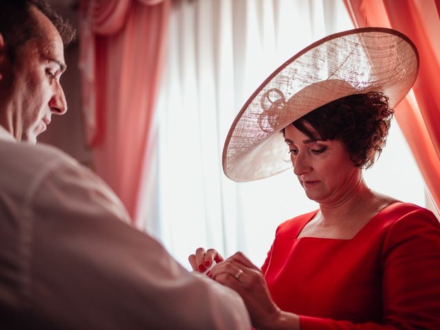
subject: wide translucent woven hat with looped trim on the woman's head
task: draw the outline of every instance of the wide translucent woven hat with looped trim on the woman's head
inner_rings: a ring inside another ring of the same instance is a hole
[[[280,131],[338,98],[381,91],[390,107],[411,89],[419,54],[407,36],[360,28],[327,36],[275,70],[244,104],[223,147],[223,171],[253,181],[292,168]]]

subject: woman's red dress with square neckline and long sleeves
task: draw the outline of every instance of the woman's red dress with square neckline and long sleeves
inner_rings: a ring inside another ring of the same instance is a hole
[[[440,329],[440,224],[410,203],[353,239],[296,239],[317,211],[278,226],[261,268],[276,305],[309,329]]]

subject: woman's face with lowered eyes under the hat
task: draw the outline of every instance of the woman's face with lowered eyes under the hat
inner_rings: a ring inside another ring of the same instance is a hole
[[[291,124],[285,128],[285,142],[294,173],[309,199],[336,206],[359,185],[361,170],[339,140],[312,140]]]

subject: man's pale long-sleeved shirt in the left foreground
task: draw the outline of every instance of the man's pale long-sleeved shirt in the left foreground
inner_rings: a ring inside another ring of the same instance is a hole
[[[0,173],[0,325],[250,329],[236,292],[131,227],[107,185],[65,153],[0,126]]]

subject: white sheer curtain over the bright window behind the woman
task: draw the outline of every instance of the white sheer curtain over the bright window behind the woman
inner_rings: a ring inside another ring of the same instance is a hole
[[[268,74],[351,28],[342,0],[173,2],[143,214],[146,230],[183,265],[199,246],[223,256],[241,250],[261,265],[276,226],[317,208],[292,171],[235,184],[223,175],[221,151],[236,113]],[[395,124],[365,176],[372,188],[423,204],[423,183]]]

